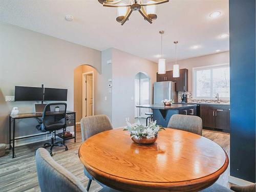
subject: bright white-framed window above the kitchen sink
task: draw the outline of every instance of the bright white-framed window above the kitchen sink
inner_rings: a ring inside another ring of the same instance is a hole
[[[229,64],[193,68],[193,98],[229,100]]]

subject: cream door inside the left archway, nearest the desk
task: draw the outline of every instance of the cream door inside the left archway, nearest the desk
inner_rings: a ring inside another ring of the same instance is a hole
[[[86,116],[93,115],[93,76],[86,75]]]

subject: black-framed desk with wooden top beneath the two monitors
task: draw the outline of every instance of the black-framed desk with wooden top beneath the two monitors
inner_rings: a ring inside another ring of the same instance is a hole
[[[59,113],[60,112],[51,112],[46,115],[54,116],[54,115],[58,115]],[[67,114],[67,118],[66,118],[67,126],[74,126],[74,136],[68,137],[68,138],[62,138],[63,143],[65,142],[65,140],[68,140],[68,139],[74,139],[74,142],[76,142],[76,112],[67,111],[66,114]],[[15,157],[15,153],[14,153],[15,140],[50,134],[50,133],[42,133],[42,134],[38,134],[38,135],[15,138],[15,120],[16,119],[27,119],[27,118],[37,118],[37,117],[42,117],[42,113],[39,113],[39,114],[38,113],[21,113],[18,115],[9,115],[9,149],[12,150],[12,158]],[[12,129],[13,129],[12,130],[12,138],[11,138],[11,123],[12,123]],[[55,135],[55,137],[56,137],[56,135]],[[12,142],[12,144],[11,144],[11,142]]]

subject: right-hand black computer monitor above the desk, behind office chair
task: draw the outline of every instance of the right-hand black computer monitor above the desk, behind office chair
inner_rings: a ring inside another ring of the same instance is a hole
[[[45,101],[67,101],[67,89],[45,88]]]

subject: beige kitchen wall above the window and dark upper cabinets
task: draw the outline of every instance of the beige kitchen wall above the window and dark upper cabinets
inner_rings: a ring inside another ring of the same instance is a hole
[[[210,66],[220,63],[229,63],[229,51],[216,53],[211,55],[205,55],[200,57],[193,57],[188,59],[183,59],[177,61],[180,65],[180,69],[188,69],[188,91],[193,91],[193,74],[192,69],[195,67],[202,67],[202,66]],[[166,70],[170,71],[173,70],[174,62],[168,62],[166,65]]]

